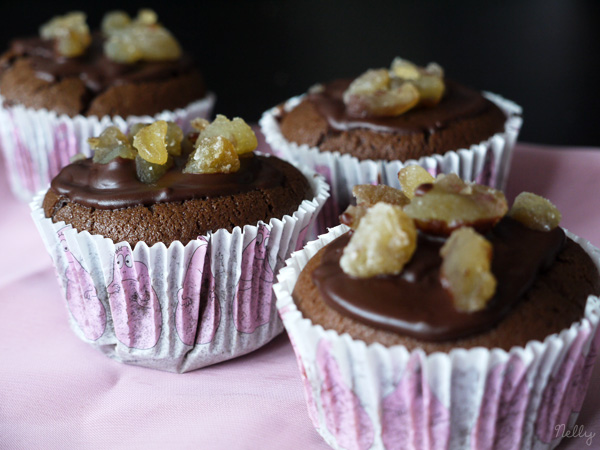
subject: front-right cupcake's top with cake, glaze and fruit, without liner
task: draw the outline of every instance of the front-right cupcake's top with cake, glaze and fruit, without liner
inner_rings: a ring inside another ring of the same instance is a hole
[[[297,284],[294,299],[311,320],[426,351],[457,340],[510,348],[567,328],[599,292],[595,266],[546,199],[522,193],[509,211],[499,191],[456,175],[434,180],[418,166],[400,182],[403,191],[355,188],[357,206],[342,216],[353,230]]]

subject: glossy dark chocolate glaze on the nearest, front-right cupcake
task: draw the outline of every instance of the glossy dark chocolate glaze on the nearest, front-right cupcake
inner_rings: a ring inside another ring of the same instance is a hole
[[[482,311],[460,312],[440,282],[443,239],[419,233],[417,251],[401,274],[354,278],[339,265],[346,233],[326,247],[312,279],[324,301],[363,323],[423,341],[445,341],[494,327],[520,301],[565,244],[560,228],[534,231],[510,218],[486,235],[493,245],[494,296]]]

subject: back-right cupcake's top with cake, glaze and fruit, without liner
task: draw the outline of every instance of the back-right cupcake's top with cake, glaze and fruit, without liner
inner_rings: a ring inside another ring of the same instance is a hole
[[[418,159],[469,148],[504,130],[506,115],[479,92],[396,58],[354,80],[314,86],[281,115],[289,141],[359,159]]]

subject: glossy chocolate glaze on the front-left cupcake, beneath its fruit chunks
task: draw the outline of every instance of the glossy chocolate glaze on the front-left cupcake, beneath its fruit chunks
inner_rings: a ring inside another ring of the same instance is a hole
[[[189,174],[174,166],[154,184],[137,179],[135,161],[115,158],[108,164],[92,159],[64,167],[51,188],[72,202],[97,209],[120,209],[193,198],[215,198],[283,186],[284,175],[270,158],[248,155],[240,169],[228,174]]]

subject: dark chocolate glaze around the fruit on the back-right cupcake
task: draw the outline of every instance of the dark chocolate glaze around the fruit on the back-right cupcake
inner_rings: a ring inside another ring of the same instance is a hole
[[[418,107],[395,117],[357,118],[347,114],[343,100],[344,91],[351,82],[352,80],[332,81],[323,84],[322,91],[307,96],[308,101],[327,119],[329,126],[338,131],[368,128],[398,134],[432,134],[453,121],[478,116],[494,107],[479,92],[451,80],[444,80],[446,91],[436,106]]]

